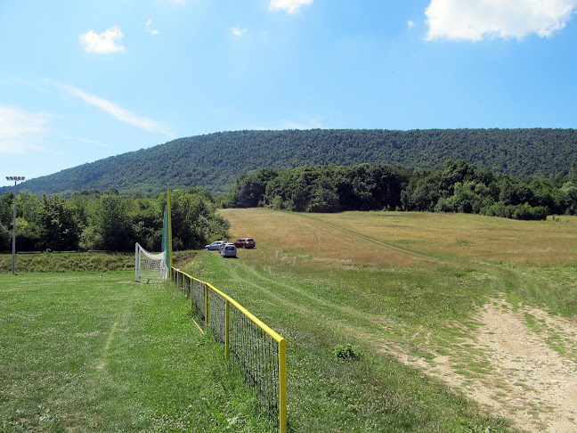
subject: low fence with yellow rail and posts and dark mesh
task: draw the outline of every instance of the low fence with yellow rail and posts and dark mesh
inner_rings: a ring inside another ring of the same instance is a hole
[[[264,413],[287,431],[287,341],[207,282],[172,268],[172,281],[191,299],[191,312],[223,344],[224,356],[256,390]]]

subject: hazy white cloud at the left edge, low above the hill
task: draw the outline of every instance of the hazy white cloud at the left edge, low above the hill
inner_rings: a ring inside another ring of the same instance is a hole
[[[51,116],[0,105],[0,154],[26,155],[31,151],[54,153],[37,142],[47,132]]]

